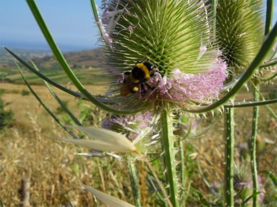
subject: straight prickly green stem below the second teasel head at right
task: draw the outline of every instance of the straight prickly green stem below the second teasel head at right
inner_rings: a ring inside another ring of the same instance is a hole
[[[234,109],[225,110],[225,205],[234,206]]]

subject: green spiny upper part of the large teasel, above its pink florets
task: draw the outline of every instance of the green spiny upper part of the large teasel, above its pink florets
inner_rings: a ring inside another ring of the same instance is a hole
[[[216,58],[203,1],[120,2],[121,9],[128,3],[129,14],[120,18],[115,28],[118,34],[113,35],[114,51],[105,47],[104,57],[116,72],[130,70],[123,64],[134,65],[138,60],[149,59],[162,74],[176,67],[183,72],[198,73],[214,61],[211,55]],[[116,4],[112,0],[109,6],[114,8]],[[207,51],[195,64],[201,43],[207,45]]]

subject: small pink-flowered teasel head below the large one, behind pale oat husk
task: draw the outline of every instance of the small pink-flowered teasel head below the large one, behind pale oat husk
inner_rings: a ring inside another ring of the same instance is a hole
[[[130,141],[135,143],[136,149],[140,153],[151,151],[158,143],[159,134],[155,133],[156,129],[151,126],[155,119],[150,112],[136,115],[107,117],[102,122],[102,128],[109,129],[125,135]]]

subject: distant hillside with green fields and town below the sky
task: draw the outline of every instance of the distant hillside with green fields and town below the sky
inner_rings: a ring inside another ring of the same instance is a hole
[[[53,58],[49,51],[12,49],[20,58],[29,62],[29,58],[38,66],[38,68],[48,77],[59,83],[68,83],[69,79],[59,66],[59,63]],[[102,74],[99,70],[101,64],[100,49],[70,52],[64,54],[69,66],[74,70],[78,78],[84,84],[93,84],[95,81],[102,81]],[[15,59],[1,48],[0,56],[0,74],[1,81],[9,83],[23,83],[20,74],[14,64]],[[31,73],[22,66],[25,76],[31,84],[43,84],[35,74]]]

